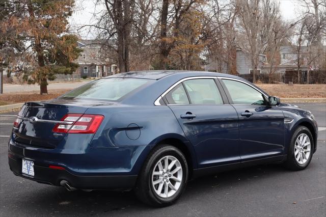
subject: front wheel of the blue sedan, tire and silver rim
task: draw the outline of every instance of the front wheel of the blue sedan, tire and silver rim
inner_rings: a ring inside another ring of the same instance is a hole
[[[308,141],[310,145],[307,145]],[[312,159],[313,147],[314,141],[310,130],[305,126],[298,126],[292,134],[284,165],[290,170],[306,169]]]

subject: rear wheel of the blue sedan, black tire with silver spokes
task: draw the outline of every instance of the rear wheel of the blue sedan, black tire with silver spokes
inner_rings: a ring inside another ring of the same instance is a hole
[[[166,159],[168,160],[168,169]],[[172,161],[174,165],[170,168]],[[187,180],[188,166],[184,154],[174,146],[158,145],[153,148],[146,159],[138,176],[134,192],[142,202],[148,205],[156,207],[169,206],[182,195]],[[156,182],[158,183],[155,184]],[[168,190],[166,191],[166,189]]]

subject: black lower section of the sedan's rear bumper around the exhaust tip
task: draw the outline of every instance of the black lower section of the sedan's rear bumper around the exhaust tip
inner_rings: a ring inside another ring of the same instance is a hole
[[[9,156],[10,170],[16,175],[43,184],[60,185],[60,181],[66,180],[71,186],[80,189],[130,189],[133,188],[137,175],[125,176],[82,176],[74,175],[67,170],[56,170],[34,165],[35,176],[21,173],[21,158]]]

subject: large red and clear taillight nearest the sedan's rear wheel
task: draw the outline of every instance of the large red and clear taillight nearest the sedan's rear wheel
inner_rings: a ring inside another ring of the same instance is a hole
[[[67,123],[58,123],[52,131],[64,133],[95,133],[103,119],[104,116],[102,115],[67,114],[61,119],[61,121]]]

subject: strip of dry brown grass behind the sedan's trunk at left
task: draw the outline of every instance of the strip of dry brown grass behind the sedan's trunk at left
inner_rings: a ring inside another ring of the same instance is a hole
[[[49,94],[40,95],[39,91],[24,93],[4,93],[0,95],[0,105],[14,104],[28,101],[41,101],[56,98],[69,90],[49,90]]]

